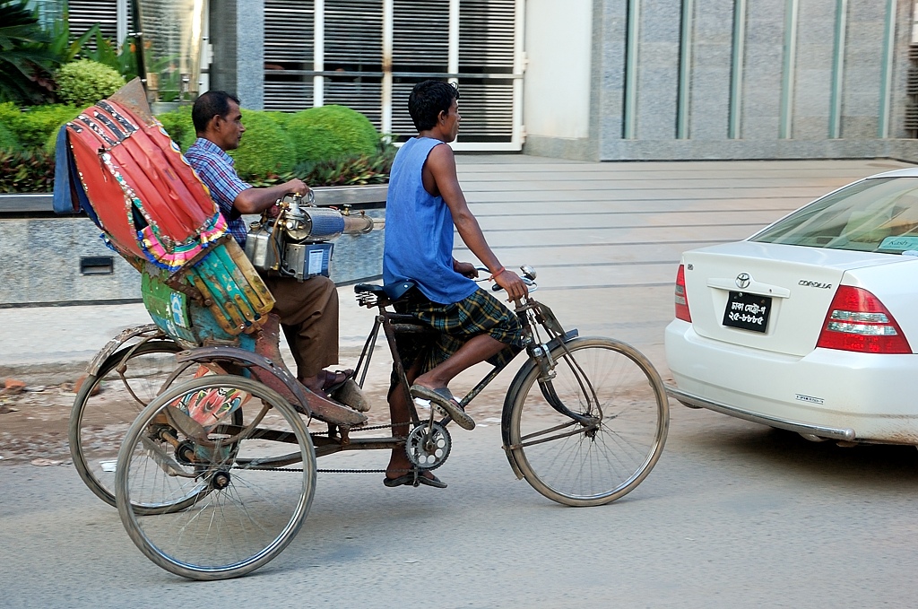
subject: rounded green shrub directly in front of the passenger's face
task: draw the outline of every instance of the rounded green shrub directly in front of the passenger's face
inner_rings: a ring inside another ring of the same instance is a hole
[[[285,174],[296,163],[297,150],[285,130],[265,112],[242,110],[245,135],[237,150],[229,152],[236,159],[236,171],[243,180],[266,175]]]

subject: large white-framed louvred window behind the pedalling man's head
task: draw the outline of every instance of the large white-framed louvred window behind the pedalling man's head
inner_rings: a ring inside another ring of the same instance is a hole
[[[388,22],[386,4],[391,6]],[[520,0],[458,0],[458,28],[453,28],[458,36],[451,39],[447,0],[325,0],[319,11],[324,62],[317,64],[315,3],[265,0],[264,105],[294,111],[341,104],[404,140],[416,132],[407,107],[411,87],[427,78],[451,79],[462,93],[459,141],[464,147],[475,149],[477,142],[485,144],[479,149],[498,144],[519,150],[519,5]],[[391,35],[390,61],[386,34]]]

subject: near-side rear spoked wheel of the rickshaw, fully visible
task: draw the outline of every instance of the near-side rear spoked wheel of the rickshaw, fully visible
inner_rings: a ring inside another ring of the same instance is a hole
[[[251,378],[218,375],[175,386],[140,413],[118,452],[115,495],[147,558],[189,579],[224,580],[290,543],[315,485],[312,440],[293,407]],[[174,507],[143,515],[138,504]]]

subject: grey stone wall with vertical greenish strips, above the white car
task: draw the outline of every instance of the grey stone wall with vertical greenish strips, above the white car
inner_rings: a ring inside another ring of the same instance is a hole
[[[912,3],[595,0],[591,160],[918,160],[904,129]],[[891,37],[889,34],[891,33]]]

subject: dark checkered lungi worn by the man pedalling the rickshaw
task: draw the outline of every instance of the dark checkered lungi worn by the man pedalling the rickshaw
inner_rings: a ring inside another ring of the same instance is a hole
[[[421,359],[420,374],[444,362],[450,355],[459,350],[466,341],[478,334],[488,334],[492,338],[507,344],[507,348],[497,355],[487,358],[493,366],[502,366],[520,353],[522,327],[516,313],[509,310],[500,300],[478,288],[471,296],[453,302],[440,304],[431,302],[420,290],[412,289],[407,299],[395,304],[398,313],[411,315],[424,325],[437,331],[437,334],[402,333],[396,336],[398,355],[402,365],[408,371]],[[392,374],[393,387],[397,384],[395,372]]]

